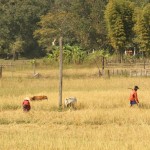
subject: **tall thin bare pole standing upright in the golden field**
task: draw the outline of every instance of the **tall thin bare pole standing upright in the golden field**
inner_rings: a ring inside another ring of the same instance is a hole
[[[63,79],[63,48],[62,37],[59,38],[60,58],[59,58],[59,108],[62,107],[62,79]]]

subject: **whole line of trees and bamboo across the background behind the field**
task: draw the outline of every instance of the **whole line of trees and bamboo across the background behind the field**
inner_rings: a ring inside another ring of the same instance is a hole
[[[14,59],[57,59],[59,37],[67,63],[93,50],[119,61],[133,47],[150,55],[149,0],[1,0],[0,20],[0,54]]]

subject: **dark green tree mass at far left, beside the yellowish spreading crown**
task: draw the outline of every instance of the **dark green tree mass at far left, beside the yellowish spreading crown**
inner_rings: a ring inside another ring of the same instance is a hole
[[[25,42],[24,54],[38,55],[37,42],[33,38],[33,32],[37,28],[36,23],[40,16],[47,13],[53,0],[6,0],[0,2],[0,36],[2,43],[0,52],[12,52],[11,44],[21,38]],[[11,44],[10,44],[11,43]],[[36,51],[36,52],[34,52]]]

